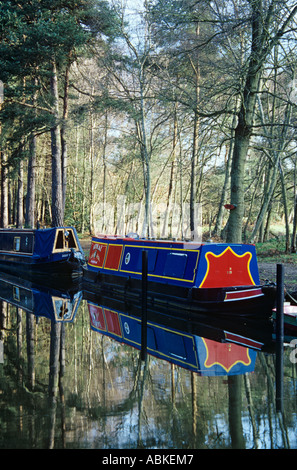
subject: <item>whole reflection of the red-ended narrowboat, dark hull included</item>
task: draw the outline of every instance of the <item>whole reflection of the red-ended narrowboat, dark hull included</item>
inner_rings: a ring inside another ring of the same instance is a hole
[[[92,330],[141,350],[141,309],[130,307],[125,310],[124,303],[108,299],[101,299],[101,302],[104,303],[88,300]],[[233,331],[223,329],[219,323],[211,325],[209,317],[207,321],[205,323],[201,317],[198,321],[189,322],[177,314],[171,316],[151,310],[147,322],[147,353],[201,376],[252,372],[257,350],[265,349],[266,344],[257,338],[244,336],[246,324],[237,325],[238,333],[234,321]],[[266,340],[269,341],[270,324],[266,326]]]

